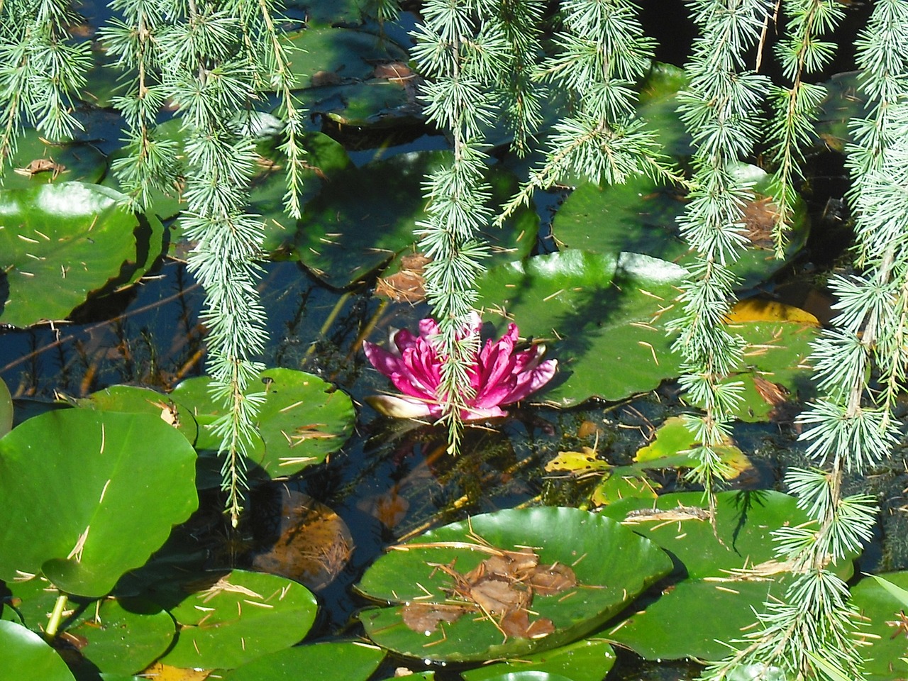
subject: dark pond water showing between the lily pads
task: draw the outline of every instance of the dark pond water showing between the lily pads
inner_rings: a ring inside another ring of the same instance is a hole
[[[405,131],[390,138],[322,120],[325,132],[344,143],[358,166],[445,146],[443,137],[414,129],[411,120]],[[415,141],[400,143],[401,135]],[[836,266],[847,243],[842,216],[828,214],[830,202],[842,197],[845,183],[841,159],[834,154],[818,155],[814,163],[810,206],[814,236],[781,275],[749,293],[798,304],[824,321],[829,301],[814,282],[822,282],[824,273]],[[564,195],[538,196],[542,226],[537,252],[554,249],[548,225]],[[349,201],[355,202],[356,194]],[[825,233],[818,235],[818,228]],[[830,233],[841,238],[831,238]],[[0,329],[0,378],[16,399],[17,421],[48,409],[49,400],[80,398],[119,383],[168,391],[181,380],[202,375],[203,293],[179,260],[179,250],[172,253],[176,257],[160,262],[139,285],[92,301],[74,312],[72,322]],[[424,303],[380,298],[371,279],[340,291],[298,262],[268,263],[260,291],[271,337],[262,360],[270,367],[311,372],[350,394],[357,408],[353,436],[325,464],[256,487],[237,532],[223,521],[217,493],[205,490],[202,510],[177,530],[172,541],[182,546],[185,568],[255,567],[308,583],[321,606],[308,640],[360,634],[354,617],[367,601],[352,587],[391,544],[427,528],[501,508],[588,506],[598,479],[547,472],[546,464],[558,452],[587,447],[613,465],[627,465],[652,441],[658,426],[686,410],[672,381],[625,400],[593,400],[567,410],[525,404],[511,410],[503,422],[467,429],[461,453],[454,458],[446,452],[443,429],[386,419],[365,400],[389,385],[365,360],[361,342],[381,341],[395,328],[414,329],[429,315]],[[778,489],[787,467],[805,463],[797,434],[790,416],[737,425],[735,441],[752,466],[733,487]],[[858,573],[908,568],[906,461],[905,451],[896,452],[872,475],[846,483],[847,491],[864,490],[883,506],[876,539],[858,561]],[[676,468],[654,471],[651,478],[665,492],[688,489]],[[333,529],[291,542],[282,551],[275,549],[316,522]],[[321,551],[316,568],[313,551]],[[452,668],[423,667],[396,658],[386,661],[374,677],[390,676],[397,666],[435,668],[441,681],[459,679]],[[668,681],[692,678],[699,669],[694,663],[645,662],[619,650],[609,678]]]

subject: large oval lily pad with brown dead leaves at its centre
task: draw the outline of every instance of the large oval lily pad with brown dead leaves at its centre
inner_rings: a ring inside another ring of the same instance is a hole
[[[486,583],[502,574],[490,557],[508,565],[497,585]],[[535,568],[517,568],[534,561]],[[360,619],[373,641],[402,655],[523,656],[583,637],[664,576],[669,563],[653,544],[602,516],[577,508],[508,509],[430,530],[379,558],[358,589],[391,605]],[[564,577],[563,588],[538,586],[536,580],[549,578],[540,573]],[[528,584],[533,594],[524,603],[515,593]],[[452,597],[455,588],[459,597]],[[491,605],[489,588],[497,594]],[[513,633],[509,623],[520,617]]]

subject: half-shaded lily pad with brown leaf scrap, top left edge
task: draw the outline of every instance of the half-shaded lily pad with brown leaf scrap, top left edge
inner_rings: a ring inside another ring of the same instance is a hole
[[[107,170],[107,159],[92,144],[53,144],[32,129],[19,136],[8,163],[11,170],[4,173],[4,189],[47,183],[96,183]]]

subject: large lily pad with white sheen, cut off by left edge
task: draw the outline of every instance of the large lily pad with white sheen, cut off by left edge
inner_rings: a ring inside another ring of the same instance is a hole
[[[163,248],[156,219],[137,216],[123,194],[97,184],[5,189],[0,221],[9,284],[0,321],[14,326],[64,319],[108,282],[141,276]]]

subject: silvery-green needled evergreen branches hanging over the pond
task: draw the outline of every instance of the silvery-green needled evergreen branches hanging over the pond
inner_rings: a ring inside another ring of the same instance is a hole
[[[475,282],[487,249],[481,232],[500,224],[533,192],[575,177],[623,183],[644,173],[689,188],[680,231],[696,252],[681,293],[684,313],[672,325],[684,357],[680,380],[701,413],[686,417],[701,443],[692,479],[715,504],[728,475],[716,446],[731,429],[741,384],[728,377],[743,341],[725,320],[735,301],[731,265],[751,244],[743,226],[751,187],[736,166],[756,152],[774,171],[775,250],[785,247],[804,147],[824,89],[811,83],[834,54],[844,13],[835,0],[689,0],[698,37],[686,64],[680,114],[694,143],[687,180],[635,114],[636,86],[649,69],[654,42],[628,0],[563,0],[543,50],[543,0],[426,0],[412,56],[425,78],[421,97],[430,123],[452,143],[449,163],[427,178],[428,217],[417,229],[432,262],[426,291],[439,321],[441,390],[449,443],[457,450],[460,410],[469,399],[469,367],[479,339],[468,335],[477,304]],[[114,18],[101,32],[123,74],[114,99],[126,122],[125,155],[114,171],[136,207],[153,192],[183,186],[181,218],[197,245],[189,258],[206,291],[212,390],[225,412],[213,426],[221,439],[223,487],[233,523],[242,509],[245,452],[262,402],[252,380],[266,341],[261,274],[262,219],[246,212],[260,127],[256,105],[274,94],[283,123],[287,212],[301,216],[303,112],[293,95],[292,46],[276,24],[271,0],[112,0]],[[380,22],[399,11],[374,3]],[[781,11],[781,15],[777,14]],[[73,113],[89,45],[74,41],[66,0],[0,0],[0,158],[15,152],[26,125],[50,139],[79,127]],[[787,84],[759,74],[775,22],[775,59]],[[908,0],[877,0],[857,42],[867,114],[852,122],[847,149],[856,216],[854,273],[831,288],[838,311],[814,344],[821,396],[799,421],[812,461],[785,483],[814,518],[776,533],[777,553],[791,572],[785,597],[767,603],[760,627],[706,669],[705,678],[828,677],[829,668],[861,678],[858,626],[848,590],[831,569],[871,536],[872,498],[844,495],[847,472],[864,473],[887,456],[898,434],[895,401],[908,374]],[[757,57],[755,64],[748,60]],[[548,131],[544,161],[530,171],[498,214],[489,207],[488,135],[498,120],[526,155],[538,146],[543,103],[565,113]],[[765,102],[769,100],[769,112]],[[182,145],[159,138],[157,121],[173,102]],[[768,115],[767,115],[768,114]]]

